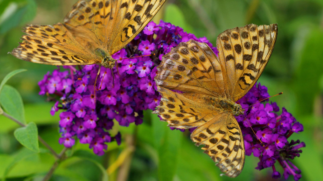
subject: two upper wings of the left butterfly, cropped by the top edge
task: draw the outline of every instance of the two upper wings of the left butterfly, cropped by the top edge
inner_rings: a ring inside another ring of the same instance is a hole
[[[148,24],[166,0],[79,0],[64,18],[83,44],[110,54],[126,46]],[[86,35],[84,35],[86,34]],[[93,37],[95,41],[89,41]],[[97,48],[97,47],[96,47]]]

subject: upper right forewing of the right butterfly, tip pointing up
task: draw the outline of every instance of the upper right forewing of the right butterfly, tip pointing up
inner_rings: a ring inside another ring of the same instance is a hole
[[[216,41],[219,60],[225,69],[228,99],[237,101],[255,84],[266,67],[277,38],[277,24],[249,24],[221,33]]]

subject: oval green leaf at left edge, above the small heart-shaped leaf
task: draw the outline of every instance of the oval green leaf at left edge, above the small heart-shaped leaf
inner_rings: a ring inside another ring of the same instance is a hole
[[[19,92],[9,85],[4,85],[0,94],[2,108],[12,117],[26,124],[24,103]]]

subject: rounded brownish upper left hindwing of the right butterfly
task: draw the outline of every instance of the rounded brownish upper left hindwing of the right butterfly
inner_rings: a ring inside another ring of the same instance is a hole
[[[155,82],[164,88],[226,98],[220,62],[206,43],[179,43],[157,70]]]

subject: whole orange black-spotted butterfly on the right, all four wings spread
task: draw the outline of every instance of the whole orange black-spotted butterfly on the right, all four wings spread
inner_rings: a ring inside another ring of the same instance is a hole
[[[245,110],[235,102],[258,80],[276,38],[277,24],[236,27],[217,37],[218,57],[206,43],[190,40],[165,54],[157,67],[162,98],[153,113],[173,128],[197,127],[191,139],[204,145],[204,153],[229,177],[238,176],[245,163],[243,135],[234,117]]]

